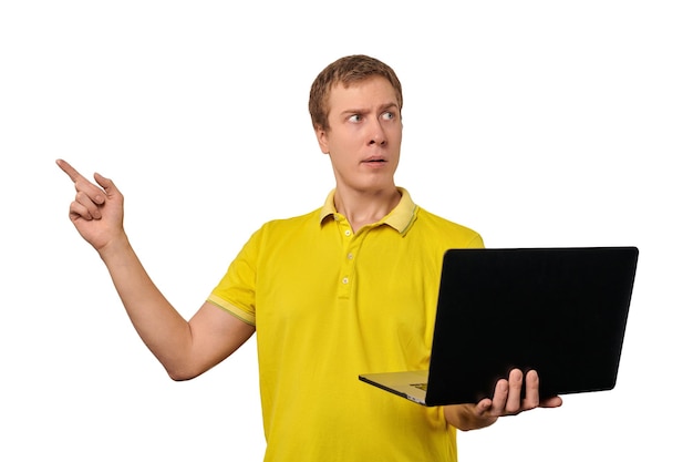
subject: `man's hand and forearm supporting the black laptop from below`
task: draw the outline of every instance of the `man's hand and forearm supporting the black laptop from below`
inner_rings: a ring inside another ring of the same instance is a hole
[[[524,398],[523,379],[526,382]],[[493,399],[485,398],[476,404],[446,405],[444,412],[447,423],[467,431],[492,425],[499,417],[517,415],[536,408],[558,408],[561,404],[560,397],[539,400],[539,376],[536,371],[531,370],[523,378],[523,371],[514,369],[507,379],[498,380]]]

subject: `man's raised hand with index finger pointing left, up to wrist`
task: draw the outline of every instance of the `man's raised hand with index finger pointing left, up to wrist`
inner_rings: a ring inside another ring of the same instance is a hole
[[[96,173],[96,185],[68,162],[59,158],[55,163],[74,183],[76,194],[70,204],[70,219],[80,235],[99,251],[124,238],[123,195],[113,182]]]

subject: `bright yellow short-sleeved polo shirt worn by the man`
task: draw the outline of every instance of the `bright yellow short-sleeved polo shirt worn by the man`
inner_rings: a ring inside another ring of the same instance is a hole
[[[334,192],[322,208],[265,224],[209,297],[256,326],[266,461],[457,460],[441,408],[358,379],[428,367],[443,254],[484,245],[400,192],[358,233]]]

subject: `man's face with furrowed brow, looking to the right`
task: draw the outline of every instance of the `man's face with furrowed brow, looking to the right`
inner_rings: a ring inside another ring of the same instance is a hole
[[[394,188],[400,162],[402,119],[394,88],[381,76],[339,84],[329,97],[330,129],[316,130],[329,154],[338,188],[360,193]]]

